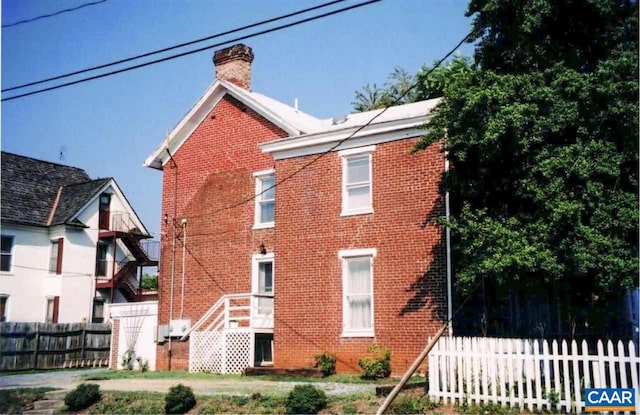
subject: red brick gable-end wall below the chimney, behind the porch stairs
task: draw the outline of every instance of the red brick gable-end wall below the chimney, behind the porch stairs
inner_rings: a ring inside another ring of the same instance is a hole
[[[177,241],[173,318],[180,318],[184,239],[187,219],[185,295],[182,318],[195,323],[223,294],[251,291],[251,256],[264,243],[274,249],[273,229],[252,230],[253,202],[227,209],[253,196],[253,173],[274,167],[258,144],[286,136],[266,119],[230,96],[223,98],[173,155],[177,165]],[[169,161],[163,171],[162,251],[158,324],[169,323],[174,185]],[[188,368],[188,344],[171,345],[171,368]],[[169,344],[158,346],[156,367],[168,368]]]

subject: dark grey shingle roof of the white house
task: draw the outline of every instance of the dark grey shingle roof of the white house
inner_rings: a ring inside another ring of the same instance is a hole
[[[2,152],[2,221],[47,226],[58,190],[62,187],[52,224],[71,217],[109,179],[91,180],[79,168]],[[76,223],[77,224],[77,223]]]

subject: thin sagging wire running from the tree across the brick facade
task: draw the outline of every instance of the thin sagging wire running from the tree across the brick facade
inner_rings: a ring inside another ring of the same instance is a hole
[[[467,33],[462,40],[460,40],[451,50],[449,50],[449,52],[447,52],[446,55],[444,55],[444,57],[442,57],[440,60],[438,60],[431,69],[429,69],[427,71],[427,73],[424,75],[425,78],[429,77],[429,75],[431,75],[431,73],[433,71],[435,71],[445,60],[447,60],[447,58],[449,58],[449,56],[451,56],[456,50],[458,50],[458,48],[467,41],[467,39],[469,38],[469,36],[471,36],[472,32]],[[407,88],[400,96],[396,97],[391,104],[389,104],[388,106],[384,107],[382,109],[382,111],[380,111],[378,114],[376,114],[375,116],[373,116],[369,121],[367,121],[364,125],[358,127],[354,132],[352,132],[351,134],[349,134],[347,137],[339,140],[336,144],[334,144],[333,146],[331,146],[331,148],[329,148],[328,150],[323,151],[322,153],[320,153],[319,155],[317,155],[316,157],[314,157],[313,159],[311,159],[309,162],[307,162],[306,164],[302,165],[302,167],[300,167],[298,170],[295,170],[293,173],[289,174],[288,176],[284,177],[283,179],[281,179],[280,181],[274,183],[272,186],[264,189],[263,191],[256,193],[256,194],[252,194],[251,196],[237,202],[234,203],[232,205],[228,205],[225,206],[223,208],[217,209],[217,210],[213,210],[211,212],[208,213],[203,213],[203,214],[199,214],[199,215],[194,215],[194,216],[189,216],[188,218],[197,218],[197,217],[201,217],[201,216],[208,216],[208,215],[213,215],[216,213],[220,213],[223,212],[225,210],[231,210],[231,209],[235,209],[237,207],[240,207],[242,205],[245,205],[253,200],[255,200],[258,196],[262,195],[263,193],[268,192],[271,189],[275,189],[277,186],[281,185],[282,183],[292,179],[294,176],[296,176],[297,174],[299,174],[300,172],[302,172],[303,170],[305,170],[306,168],[308,168],[309,166],[311,166],[312,164],[316,163],[318,160],[320,160],[321,158],[323,158],[324,156],[326,156],[327,154],[331,153],[332,151],[334,151],[336,148],[340,147],[342,144],[344,144],[347,140],[353,138],[353,136],[355,136],[356,134],[358,134],[360,131],[362,131],[364,128],[368,127],[369,125],[371,125],[371,123],[373,121],[375,121],[378,117],[380,117],[382,114],[384,114],[389,108],[393,107],[395,104],[397,104],[398,102],[400,102],[405,96],[407,96],[407,94],[413,90],[414,88],[416,88],[418,85],[420,85],[421,80],[418,80],[416,82],[414,82],[409,88]]]

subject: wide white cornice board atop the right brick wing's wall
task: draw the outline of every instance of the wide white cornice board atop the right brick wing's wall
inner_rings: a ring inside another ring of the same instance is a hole
[[[354,134],[360,126],[351,126],[339,130],[306,134],[298,137],[283,138],[260,144],[265,153],[271,153],[276,160],[323,153],[329,150],[340,151],[368,145],[375,145],[425,134],[423,125],[431,114],[401,118],[380,123],[372,123]],[[353,134],[353,137],[351,135]],[[347,139],[348,138],[348,139]],[[335,149],[340,141],[345,140]]]

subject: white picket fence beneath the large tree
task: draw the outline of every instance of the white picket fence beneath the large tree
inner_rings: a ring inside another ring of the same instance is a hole
[[[429,353],[429,395],[444,402],[499,403],[529,411],[584,411],[585,388],[634,388],[640,414],[634,342],[443,337]],[[605,350],[606,349],[606,350]]]

